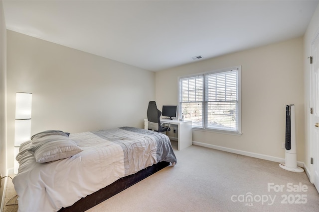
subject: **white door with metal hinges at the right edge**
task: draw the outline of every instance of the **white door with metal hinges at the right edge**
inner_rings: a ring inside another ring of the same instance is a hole
[[[311,46],[313,64],[312,77],[312,104],[313,115],[311,121],[311,149],[314,158],[313,183],[319,192],[319,34]]]

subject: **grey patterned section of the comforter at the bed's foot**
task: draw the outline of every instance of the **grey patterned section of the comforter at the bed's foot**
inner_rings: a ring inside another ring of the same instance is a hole
[[[123,131],[111,129],[91,133],[106,141],[117,143],[122,147],[124,151],[125,176],[134,174],[160,161],[171,162],[172,165],[176,164],[176,156],[166,135],[133,127],[121,127],[119,129]],[[155,154],[156,161],[148,164],[150,157],[154,157]]]

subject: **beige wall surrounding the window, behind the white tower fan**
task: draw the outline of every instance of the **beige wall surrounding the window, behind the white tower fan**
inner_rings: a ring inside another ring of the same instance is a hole
[[[284,158],[286,105],[295,104],[297,155],[304,161],[303,38],[156,72],[156,101],[177,104],[178,76],[239,65],[242,135],[193,130],[193,141]]]

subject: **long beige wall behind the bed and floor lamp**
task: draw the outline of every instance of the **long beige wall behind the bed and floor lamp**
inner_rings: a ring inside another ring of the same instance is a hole
[[[31,134],[76,133],[144,128],[154,83],[152,71],[8,30],[8,166],[13,166],[15,92],[33,94]]]

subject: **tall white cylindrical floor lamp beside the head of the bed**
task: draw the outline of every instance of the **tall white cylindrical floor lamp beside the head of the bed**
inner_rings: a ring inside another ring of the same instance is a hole
[[[16,93],[15,96],[15,129],[14,129],[14,174],[17,174],[19,163],[15,157],[20,144],[31,137],[32,93]]]

